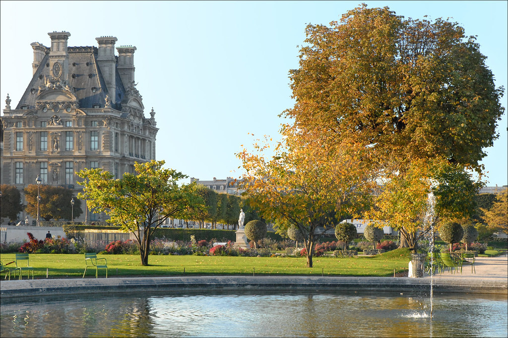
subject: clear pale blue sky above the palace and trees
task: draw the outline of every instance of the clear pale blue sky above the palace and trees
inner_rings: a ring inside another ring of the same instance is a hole
[[[48,32],[69,31],[69,46],[116,36],[116,46],[137,47],[137,88],[160,128],[157,160],[202,180],[239,177],[240,145],[276,137],[284,122],[277,115],[294,104],[288,71],[298,67],[306,24],[339,20],[360,3],[2,1],[0,94],[19,102],[32,76],[30,43],[49,46]],[[508,88],[506,1],[365,3],[405,17],[453,18],[478,35],[496,86]],[[505,114],[483,162],[489,185],[508,181],[506,128]]]

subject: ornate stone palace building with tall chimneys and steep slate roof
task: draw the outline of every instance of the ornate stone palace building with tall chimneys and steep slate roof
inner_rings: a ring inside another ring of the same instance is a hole
[[[136,89],[136,47],[116,47],[115,55],[113,36],[97,37],[99,47],[68,47],[69,32],[48,35],[51,47],[31,44],[33,78],[19,103],[6,99],[2,184],[23,193],[40,175],[42,184],[77,194],[81,169],[102,168],[120,178],[134,171],[134,162],[155,159],[158,129],[153,108],[145,118]]]

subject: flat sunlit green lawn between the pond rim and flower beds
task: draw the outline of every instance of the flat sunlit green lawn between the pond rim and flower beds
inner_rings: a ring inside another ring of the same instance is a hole
[[[220,257],[220,256],[173,256],[150,255],[150,266],[140,265],[139,255],[101,255],[108,261],[108,277],[115,276],[181,276],[185,275],[314,275],[321,276],[393,276],[407,270],[409,253],[397,249],[373,257],[332,258],[314,257],[312,269],[306,268],[305,257]],[[15,259],[14,253],[0,255],[7,264]],[[26,262],[24,262],[26,265]],[[35,278],[76,278],[83,276],[85,268],[82,254],[30,254],[30,266]],[[7,268],[14,267],[14,264]],[[100,274],[104,275],[104,271]],[[95,271],[88,269],[87,277]],[[24,275],[26,278],[26,273]]]

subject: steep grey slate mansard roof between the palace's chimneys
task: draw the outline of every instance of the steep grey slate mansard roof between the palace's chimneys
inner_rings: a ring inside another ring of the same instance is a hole
[[[80,108],[92,108],[95,104],[104,107],[106,95],[111,95],[108,92],[101,67],[97,61],[97,50],[97,47],[90,46],[68,47],[69,71],[68,78],[64,81],[73,89]],[[40,62],[28,87],[26,87],[16,109],[21,109],[22,106],[33,109],[36,106],[36,99],[41,94],[40,89],[45,87],[50,78],[49,48],[46,47],[46,55]],[[112,108],[121,110],[120,102],[124,99],[125,87],[118,70],[116,70],[115,78],[116,103],[112,104]]]

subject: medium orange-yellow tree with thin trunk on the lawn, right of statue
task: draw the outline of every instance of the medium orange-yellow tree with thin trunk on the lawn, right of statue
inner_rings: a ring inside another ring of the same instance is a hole
[[[368,199],[369,152],[353,139],[330,145],[289,127],[282,135],[273,157],[268,140],[238,154],[246,172],[244,187],[252,206],[277,222],[279,231],[292,225],[299,229],[312,268],[316,240]]]

